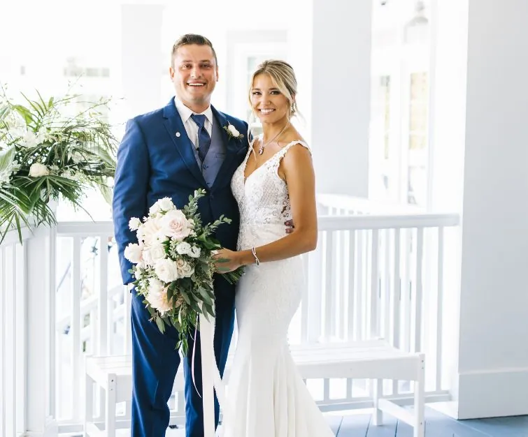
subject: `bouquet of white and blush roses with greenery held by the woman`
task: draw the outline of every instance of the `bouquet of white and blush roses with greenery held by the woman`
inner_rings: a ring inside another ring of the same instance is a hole
[[[129,228],[136,231],[138,243],[124,249],[124,258],[135,264],[129,272],[152,320],[161,332],[166,326],[178,330],[176,348],[183,355],[187,355],[187,334],[197,326],[198,315],[214,316],[212,255],[222,246],[211,235],[222,223],[231,223],[221,216],[214,223],[201,224],[198,200],[205,193],[195,191],[183,209],[177,209],[170,198],[159,199],[143,221],[131,218]],[[224,277],[236,283],[242,273],[238,269]]]

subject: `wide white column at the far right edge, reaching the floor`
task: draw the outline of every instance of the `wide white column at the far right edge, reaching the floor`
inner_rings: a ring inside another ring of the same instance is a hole
[[[528,414],[527,21],[469,0],[459,418]]]

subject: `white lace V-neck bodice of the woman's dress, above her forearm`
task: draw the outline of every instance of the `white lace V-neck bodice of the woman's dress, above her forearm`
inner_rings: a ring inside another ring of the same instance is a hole
[[[309,149],[305,142],[292,141],[245,179],[245,165],[252,153],[251,143],[244,161],[234,172],[231,190],[240,209],[238,250],[284,237],[284,222],[292,218],[292,211],[287,185],[280,179],[278,168],[280,160],[296,144]]]

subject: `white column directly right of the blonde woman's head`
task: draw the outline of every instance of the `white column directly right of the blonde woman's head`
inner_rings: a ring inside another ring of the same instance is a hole
[[[311,138],[318,193],[368,195],[371,9],[371,1],[313,0]]]

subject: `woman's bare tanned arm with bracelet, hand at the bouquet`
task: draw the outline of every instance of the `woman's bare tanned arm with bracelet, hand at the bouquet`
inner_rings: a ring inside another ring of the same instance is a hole
[[[315,205],[315,175],[310,151],[302,145],[294,145],[285,154],[279,168],[288,187],[294,232],[276,242],[255,248],[260,262],[284,260],[301,253],[313,251],[317,246],[317,208]],[[255,263],[255,257],[248,251],[233,252],[222,249],[217,258],[220,272],[234,270],[241,265]]]

